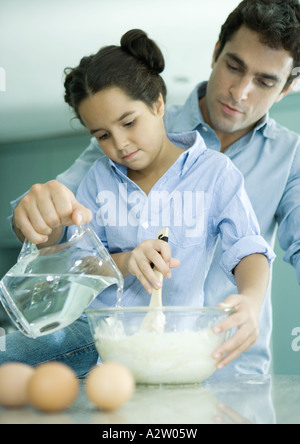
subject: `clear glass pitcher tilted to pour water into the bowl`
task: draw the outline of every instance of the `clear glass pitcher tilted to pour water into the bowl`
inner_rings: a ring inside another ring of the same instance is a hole
[[[37,338],[78,319],[107,287],[123,277],[100,239],[81,227],[63,244],[37,247],[25,241],[17,264],[0,282],[0,300],[17,328]]]

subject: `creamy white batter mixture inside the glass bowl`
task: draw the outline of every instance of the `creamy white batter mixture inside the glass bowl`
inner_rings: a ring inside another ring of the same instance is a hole
[[[112,320],[110,320],[112,321]],[[121,322],[98,327],[95,344],[103,361],[128,367],[137,383],[199,383],[216,370],[212,353],[223,337],[209,329],[153,333],[138,331],[127,336]]]

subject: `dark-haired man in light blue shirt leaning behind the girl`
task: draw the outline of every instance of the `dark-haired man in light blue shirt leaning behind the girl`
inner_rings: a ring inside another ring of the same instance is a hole
[[[209,81],[199,84],[185,105],[170,107],[165,123],[168,132],[199,131],[208,148],[231,158],[244,174],[262,235],[273,245],[279,225],[285,259],[295,266],[300,283],[300,137],[268,115],[271,106],[295,85],[293,73],[300,66],[299,31],[298,0],[244,0],[222,27]],[[90,221],[90,212],[73,193],[100,155],[99,145],[92,139],[57,181],[30,190],[13,217],[21,240],[27,237],[35,243],[51,244],[58,227]],[[220,354],[228,353],[222,364],[242,353],[228,365],[229,371],[267,373],[270,291],[263,307],[253,310],[250,328],[239,318],[235,296],[228,297],[236,290],[219,267],[221,253],[218,246],[206,280],[205,305],[212,305],[216,295],[220,303],[225,299],[225,305],[237,309],[235,326],[243,333],[234,347],[229,340],[219,350]]]

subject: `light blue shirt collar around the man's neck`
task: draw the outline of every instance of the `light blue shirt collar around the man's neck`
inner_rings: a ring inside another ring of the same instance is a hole
[[[179,118],[177,119],[176,131],[193,131],[199,125],[207,125],[204,122],[201,110],[199,108],[199,100],[206,95],[206,88],[208,82],[198,83],[187,101],[182,107]],[[256,124],[254,132],[260,131],[264,137],[269,139],[275,139],[273,131],[274,122],[267,113]]]

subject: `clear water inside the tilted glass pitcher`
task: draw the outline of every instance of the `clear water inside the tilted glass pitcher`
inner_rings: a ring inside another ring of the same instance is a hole
[[[7,300],[13,300],[5,308],[18,315],[18,327],[38,337],[71,324],[99,293],[114,284],[118,286],[119,300],[122,285],[113,276],[8,273],[2,281],[2,291],[10,295]]]

